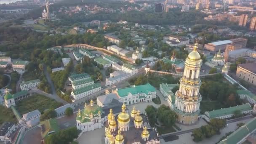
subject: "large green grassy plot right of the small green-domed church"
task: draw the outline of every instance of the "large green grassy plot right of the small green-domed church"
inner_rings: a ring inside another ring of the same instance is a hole
[[[60,102],[57,102],[46,96],[35,94],[27,99],[17,102],[16,109],[21,115],[23,115],[36,109],[38,109],[40,112],[44,111],[45,109],[56,109],[61,105],[62,104]]]

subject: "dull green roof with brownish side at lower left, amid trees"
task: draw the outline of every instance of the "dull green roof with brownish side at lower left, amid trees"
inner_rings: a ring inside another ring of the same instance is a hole
[[[56,118],[51,118],[49,120],[45,120],[43,122],[40,123],[41,127],[42,127],[42,135],[43,138],[47,137],[49,134],[49,132],[53,132],[54,133],[58,133],[59,132],[59,125],[57,123]]]

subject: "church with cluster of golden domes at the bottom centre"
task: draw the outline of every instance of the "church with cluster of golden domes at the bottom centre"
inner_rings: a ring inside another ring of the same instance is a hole
[[[146,117],[133,107],[131,114],[126,112],[123,104],[122,112],[115,117],[110,109],[105,123],[105,144],[160,144],[157,133],[147,128]],[[117,122],[116,122],[117,121]]]

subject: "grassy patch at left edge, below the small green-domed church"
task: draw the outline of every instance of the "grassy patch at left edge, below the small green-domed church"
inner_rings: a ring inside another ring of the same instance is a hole
[[[15,115],[13,114],[13,111],[11,108],[7,108],[3,105],[0,105],[0,125],[2,125],[4,122],[17,122],[17,119]]]

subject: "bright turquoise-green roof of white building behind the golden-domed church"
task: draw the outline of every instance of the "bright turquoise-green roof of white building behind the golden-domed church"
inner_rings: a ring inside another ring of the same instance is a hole
[[[155,91],[156,91],[156,89],[149,83],[147,83],[145,85],[135,85],[135,86],[131,86],[128,88],[117,89],[118,96],[120,96],[120,97],[125,97],[128,95],[128,93],[131,93],[131,94],[146,93],[146,94],[148,94],[149,92],[155,92]]]

